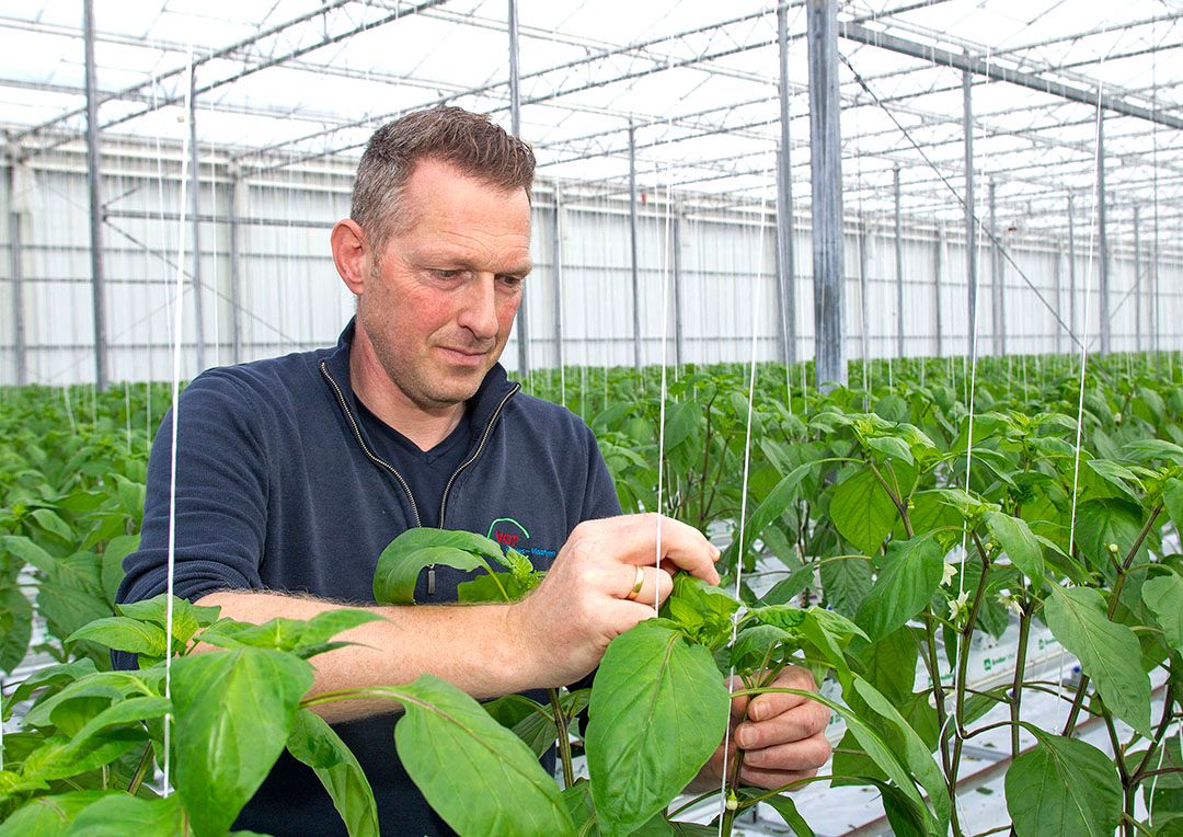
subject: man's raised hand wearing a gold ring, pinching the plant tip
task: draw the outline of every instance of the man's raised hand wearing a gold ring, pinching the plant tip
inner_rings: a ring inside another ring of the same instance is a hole
[[[718,584],[718,556],[700,532],[658,514],[580,523],[538,588],[508,614],[537,672],[531,680],[558,687],[586,676],[608,643],[653,616],[654,604],[673,590],[673,572]],[[641,588],[629,598],[639,579]]]

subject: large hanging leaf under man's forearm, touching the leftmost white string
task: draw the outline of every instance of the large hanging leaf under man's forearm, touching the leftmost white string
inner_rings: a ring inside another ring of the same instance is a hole
[[[224,833],[259,790],[311,685],[309,663],[267,649],[176,661],[175,781],[198,837]]]

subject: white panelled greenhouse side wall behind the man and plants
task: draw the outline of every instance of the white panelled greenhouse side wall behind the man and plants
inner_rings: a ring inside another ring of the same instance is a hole
[[[353,300],[336,275],[328,244],[335,220],[348,214],[353,163],[338,161],[316,172],[279,169],[240,181],[237,193],[224,166],[202,165],[199,345],[192,230],[188,211],[183,225],[179,212],[182,189],[176,157],[121,148],[104,160],[110,379],[170,376],[170,305],[179,258],[180,281],[186,288],[182,376],[193,376],[202,367],[331,343],[353,311]],[[211,178],[212,172],[216,176]],[[27,379],[49,385],[91,381],[92,290],[86,176],[80,156],[63,152],[44,157],[35,167],[19,168],[11,182],[13,194],[6,188],[4,206],[9,221],[13,212],[20,221],[19,291]],[[232,202],[238,218],[237,270],[230,242]],[[1110,214],[1120,211],[1116,207]],[[597,189],[564,185],[561,212],[562,359],[567,365],[633,365],[636,342],[627,193],[613,194],[602,185]],[[638,207],[638,215],[642,365],[675,362],[679,331],[684,362],[748,360],[754,336],[758,359],[782,356],[772,207],[712,207],[683,204],[675,197],[672,211],[664,201],[651,199]],[[560,359],[554,185],[537,186],[534,218],[536,268],[525,297],[526,362],[530,368],[549,368]],[[794,335],[796,359],[808,359],[814,352],[812,252],[808,214],[802,207],[796,220],[796,321],[788,330]],[[984,231],[978,236],[978,354],[1079,350],[1065,327],[1087,335],[1091,352],[1099,349],[1100,265],[1097,237],[1087,221],[1081,213],[1074,271],[1069,270],[1066,242],[1000,231],[1002,249],[995,260],[989,237]],[[964,231],[904,219],[900,259],[906,302],[900,311],[893,219],[848,212],[846,227],[847,358],[965,355],[972,331]],[[17,382],[18,371],[18,288],[11,228],[4,224],[0,239],[2,384]],[[677,259],[674,240],[679,243]],[[1179,253],[1164,252],[1156,265],[1152,238],[1144,232],[1138,282],[1132,242],[1111,239],[1110,252],[1111,350],[1183,348]],[[996,281],[1003,286],[1004,337],[995,311]],[[518,367],[518,335],[516,329],[503,359],[511,369]]]

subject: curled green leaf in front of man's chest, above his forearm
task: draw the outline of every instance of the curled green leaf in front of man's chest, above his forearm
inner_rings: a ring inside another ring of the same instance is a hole
[[[470,532],[407,529],[377,559],[374,599],[382,604],[413,605],[415,581],[425,567],[442,564],[457,569],[484,569],[492,573],[489,561],[500,562],[500,555],[502,549],[494,541]]]

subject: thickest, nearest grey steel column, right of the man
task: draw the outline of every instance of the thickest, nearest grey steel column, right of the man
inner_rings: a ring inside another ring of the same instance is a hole
[[[813,185],[814,352],[820,388],[846,384],[842,329],[842,148],[838,4],[808,0],[809,168]]]

